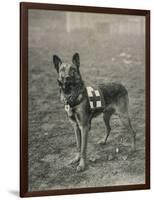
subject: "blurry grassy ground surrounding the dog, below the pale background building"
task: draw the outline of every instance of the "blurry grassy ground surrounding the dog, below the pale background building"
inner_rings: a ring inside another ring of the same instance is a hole
[[[31,31],[31,30],[30,30]],[[71,35],[46,33],[29,45],[29,190],[140,184],[145,182],[145,44],[144,36],[106,35],[74,31]],[[76,172],[70,160],[76,152],[75,136],[60,102],[52,55],[65,61],[79,52],[86,85],[121,82],[130,99],[130,117],[137,133],[137,150],[117,116],[106,145],[102,116],[93,120],[88,138],[88,161]],[[118,152],[117,152],[118,149]]]

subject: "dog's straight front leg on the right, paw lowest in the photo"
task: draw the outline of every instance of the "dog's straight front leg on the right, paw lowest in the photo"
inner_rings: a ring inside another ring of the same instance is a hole
[[[77,171],[83,171],[86,166],[86,150],[87,150],[87,140],[88,140],[88,126],[81,126],[81,152],[80,152],[80,162],[77,166]]]

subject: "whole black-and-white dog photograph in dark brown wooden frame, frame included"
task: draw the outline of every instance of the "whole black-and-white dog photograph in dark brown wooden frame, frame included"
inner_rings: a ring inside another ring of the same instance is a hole
[[[150,11],[20,3],[20,196],[150,188]]]

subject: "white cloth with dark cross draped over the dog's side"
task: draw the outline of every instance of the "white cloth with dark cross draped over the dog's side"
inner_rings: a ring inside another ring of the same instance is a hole
[[[96,109],[104,109],[105,108],[105,101],[104,95],[102,91],[100,92],[99,88],[94,89],[90,86],[86,87],[89,105],[92,110]]]

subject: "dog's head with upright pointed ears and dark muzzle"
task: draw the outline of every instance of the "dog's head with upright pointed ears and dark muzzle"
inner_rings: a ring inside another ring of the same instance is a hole
[[[81,75],[79,71],[80,58],[79,54],[75,53],[71,63],[62,62],[57,56],[53,56],[53,63],[58,73],[58,84],[65,93],[70,93],[73,87],[75,87],[81,81]]]

